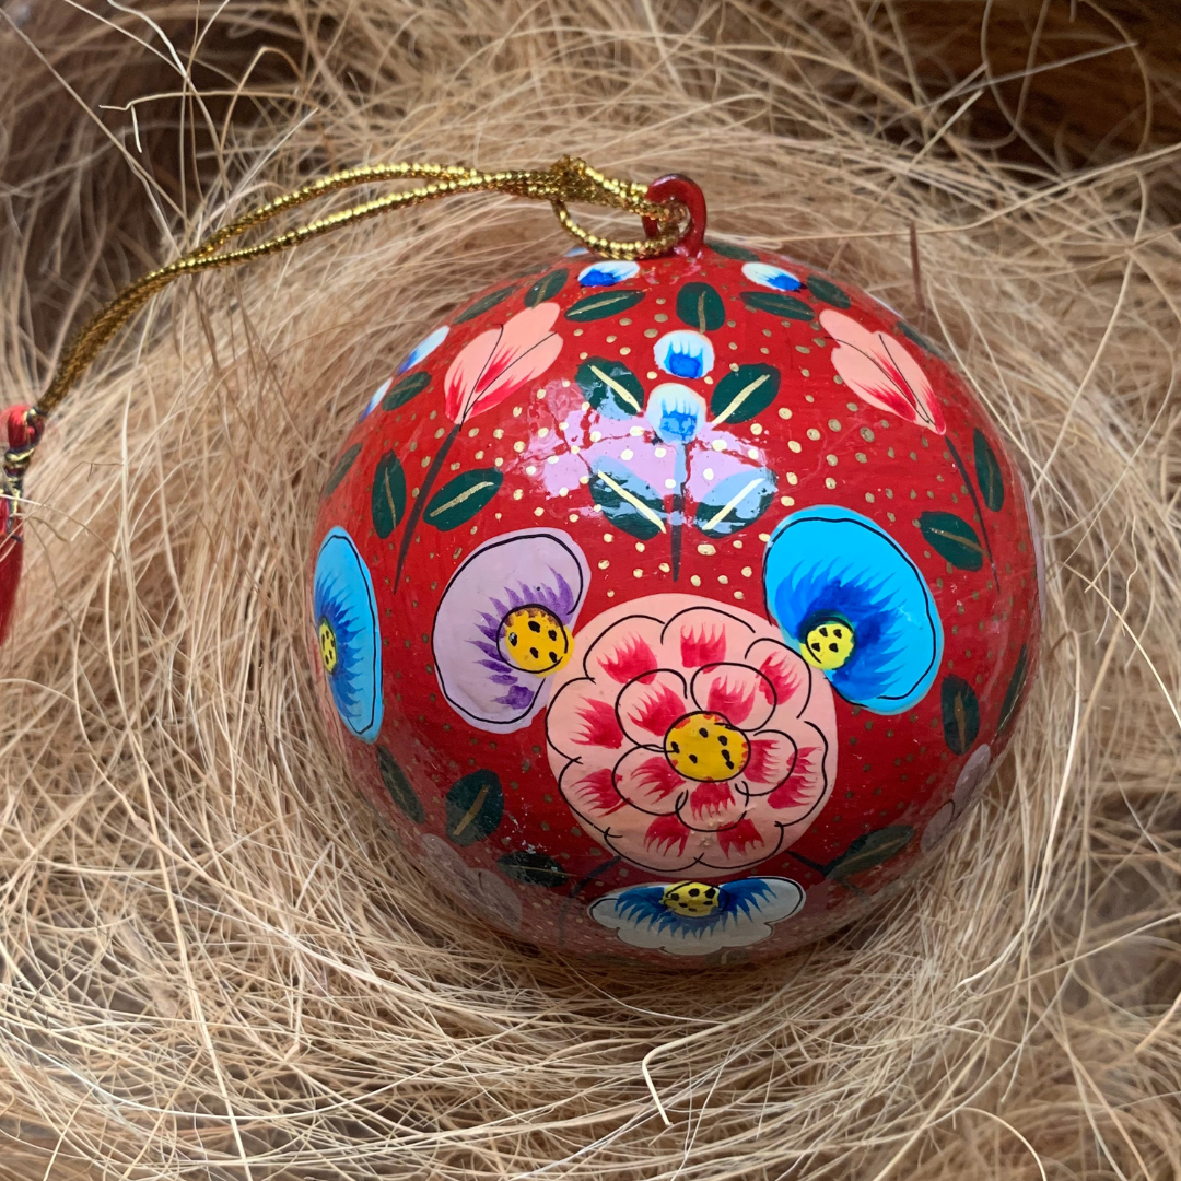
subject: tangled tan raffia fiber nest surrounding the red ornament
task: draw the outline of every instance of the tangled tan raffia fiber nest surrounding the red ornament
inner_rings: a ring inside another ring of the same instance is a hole
[[[28,482],[0,1175],[1181,1173],[1173,145],[1006,170],[957,118],[971,86],[931,100],[889,6],[841,0],[5,12],[7,402],[76,311],[328,168],[676,168],[719,230],[908,318],[915,224],[928,331],[1036,488],[1050,601],[1004,774],[875,915],[761,967],[559,960],[458,912],[351,794],[302,615],[347,424],[451,305],[566,248],[550,214],[458,200],[174,289]]]

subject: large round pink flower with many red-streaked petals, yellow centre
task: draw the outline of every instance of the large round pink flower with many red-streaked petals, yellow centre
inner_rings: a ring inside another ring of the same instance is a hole
[[[785,849],[836,775],[828,681],[778,628],[659,594],[575,637],[546,718],[549,764],[582,826],[653,872],[717,877]]]

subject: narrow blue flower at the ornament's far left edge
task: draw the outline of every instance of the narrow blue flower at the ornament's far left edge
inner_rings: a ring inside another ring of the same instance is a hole
[[[337,712],[350,733],[377,742],[381,729],[381,632],[373,580],[341,528],[320,544],[312,580],[312,625]]]

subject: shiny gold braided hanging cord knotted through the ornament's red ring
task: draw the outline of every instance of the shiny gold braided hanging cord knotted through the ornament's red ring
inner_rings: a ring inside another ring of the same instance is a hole
[[[363,184],[411,178],[430,183],[417,189],[406,189],[402,193],[376,197],[334,214],[327,214],[262,242],[229,250],[223,249],[234,239],[241,237],[249,230],[311,201]],[[683,224],[684,210],[680,205],[650,201],[645,185],[605,176],[590,168],[586,161],[570,156],[563,156],[552,168],[539,171],[479,172],[476,169],[461,165],[417,163],[370,164],[363,168],[351,168],[344,172],[335,172],[332,176],[313,181],[294,193],[287,193],[257,209],[249,210],[228,226],[214,230],[193,250],[175,262],[143,275],[126,287],[98,312],[66,347],[50,387],[40,402],[28,411],[28,422],[34,423],[38,419],[44,422],[52,415],[61,405],[78,378],[116,333],[152,295],[163,291],[181,275],[231,267],[252,259],[261,259],[268,254],[278,254],[302,242],[308,242],[313,237],[319,237],[321,234],[328,234],[368,217],[377,217],[392,209],[417,205],[458,193],[507,193],[534,201],[548,201],[553,205],[557,220],[568,233],[588,249],[611,259],[648,259],[666,254],[680,241],[687,229],[687,223]],[[640,217],[653,221],[658,233],[653,237],[635,241],[600,237],[574,221],[567,205],[576,202],[606,205],[638,214]],[[11,466],[13,471],[24,472],[34,450],[35,444],[21,449],[19,454],[9,451],[6,456],[6,465]]]

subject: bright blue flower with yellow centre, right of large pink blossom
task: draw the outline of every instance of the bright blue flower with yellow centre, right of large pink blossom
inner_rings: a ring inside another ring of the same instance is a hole
[[[850,509],[817,504],[771,535],[763,589],[784,640],[848,702],[901,713],[939,671],[944,631],[918,567]]]

